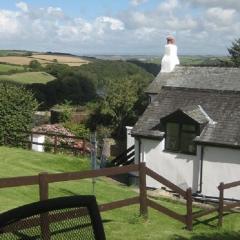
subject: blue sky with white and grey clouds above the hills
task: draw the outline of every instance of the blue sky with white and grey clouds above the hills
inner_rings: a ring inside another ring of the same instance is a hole
[[[0,49],[80,55],[226,55],[240,0],[0,0]]]

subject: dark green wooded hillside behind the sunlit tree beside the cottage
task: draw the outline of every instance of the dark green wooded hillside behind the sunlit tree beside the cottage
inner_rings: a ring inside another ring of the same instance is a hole
[[[35,61],[32,61],[31,65],[36,70],[40,68]],[[109,93],[108,88],[111,84],[113,82],[120,84],[120,80],[123,79],[127,81],[134,78],[135,82],[144,83],[143,87],[153,79],[153,75],[144,69],[124,61],[97,60],[80,67],[54,63],[44,69],[41,67],[42,70],[56,79],[47,84],[35,83],[26,86],[34,92],[41,109],[48,109],[66,100],[74,105],[82,105],[104,98]]]

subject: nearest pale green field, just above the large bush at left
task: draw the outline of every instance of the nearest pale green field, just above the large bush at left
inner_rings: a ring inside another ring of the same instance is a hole
[[[24,72],[11,75],[0,75],[0,80],[8,80],[23,84],[47,83],[54,80],[55,77],[46,72]]]

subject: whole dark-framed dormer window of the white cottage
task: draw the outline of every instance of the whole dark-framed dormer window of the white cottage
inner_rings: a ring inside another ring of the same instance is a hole
[[[193,139],[197,136],[195,125],[167,123],[165,148],[169,151],[196,154]]]

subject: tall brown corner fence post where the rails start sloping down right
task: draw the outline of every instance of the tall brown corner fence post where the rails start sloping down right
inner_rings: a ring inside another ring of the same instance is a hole
[[[140,214],[145,219],[148,218],[147,207],[147,186],[146,186],[146,164],[139,163],[139,192],[140,192]]]

